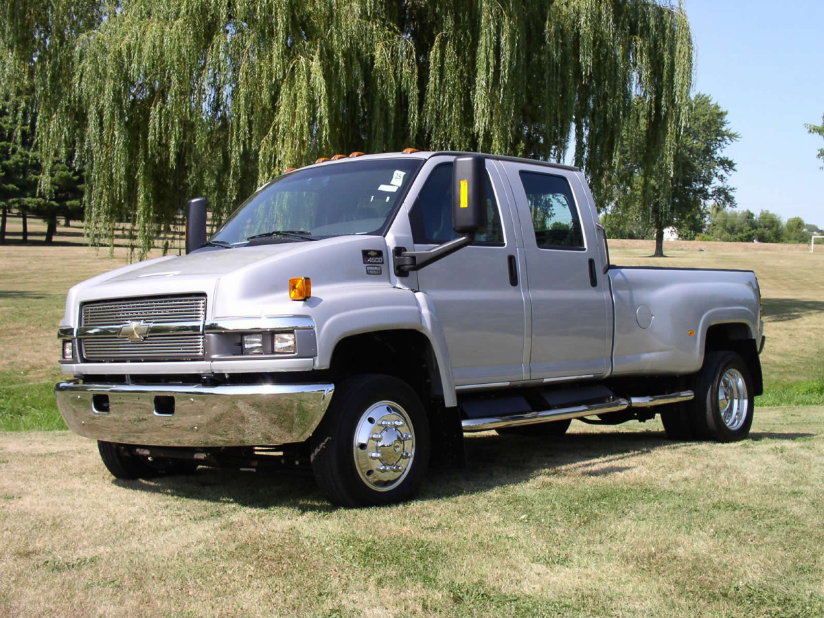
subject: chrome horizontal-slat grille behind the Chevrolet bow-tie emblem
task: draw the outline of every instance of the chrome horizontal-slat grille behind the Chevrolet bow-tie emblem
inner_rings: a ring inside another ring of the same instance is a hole
[[[88,302],[82,307],[82,326],[203,322],[206,297],[155,297],[122,301]],[[82,339],[84,358],[91,361],[180,361],[204,357],[204,335],[152,335],[136,340],[126,337]]]

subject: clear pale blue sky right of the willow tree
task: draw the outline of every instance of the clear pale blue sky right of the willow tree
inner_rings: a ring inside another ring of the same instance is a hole
[[[695,91],[724,110],[741,139],[738,210],[770,210],[824,228],[824,0],[684,0],[695,41]]]

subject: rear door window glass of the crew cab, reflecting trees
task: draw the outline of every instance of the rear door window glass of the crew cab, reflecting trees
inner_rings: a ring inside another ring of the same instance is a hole
[[[537,245],[541,249],[583,250],[581,222],[566,179],[522,171],[521,183]]]

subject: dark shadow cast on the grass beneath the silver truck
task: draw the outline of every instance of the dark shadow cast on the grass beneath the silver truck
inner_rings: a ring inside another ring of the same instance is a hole
[[[752,433],[751,439],[798,440],[815,433]],[[419,500],[479,494],[503,485],[518,485],[536,475],[573,473],[609,476],[631,471],[635,461],[660,449],[692,447],[673,442],[655,430],[568,433],[558,437],[476,434],[466,438],[466,467],[432,467]],[[308,467],[279,472],[246,472],[199,468],[193,475],[154,480],[113,480],[115,485],[154,494],[249,508],[293,508],[300,513],[332,513]]]

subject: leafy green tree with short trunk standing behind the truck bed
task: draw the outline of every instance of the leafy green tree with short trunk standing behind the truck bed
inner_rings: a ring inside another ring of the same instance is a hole
[[[621,227],[651,227],[655,255],[663,255],[664,230],[676,227],[679,236],[694,238],[706,226],[709,208],[735,205],[728,176],[735,163],[722,151],[738,139],[728,127],[727,112],[709,96],[692,100],[686,125],[677,138],[672,171],[657,166],[650,177],[639,155],[645,147],[644,121],[630,124],[620,148],[620,162],[611,178],[610,218]]]

